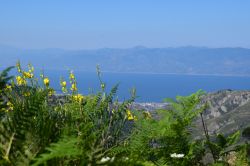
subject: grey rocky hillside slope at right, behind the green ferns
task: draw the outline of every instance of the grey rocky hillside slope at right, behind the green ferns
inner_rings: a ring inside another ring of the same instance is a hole
[[[210,134],[231,134],[250,125],[250,91],[224,90],[204,96],[210,107],[204,112],[204,119]],[[201,119],[196,121],[197,132]]]

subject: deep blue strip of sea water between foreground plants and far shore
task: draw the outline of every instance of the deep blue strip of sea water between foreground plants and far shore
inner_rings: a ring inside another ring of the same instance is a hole
[[[88,94],[100,90],[95,72],[74,72],[79,91]],[[60,92],[60,77],[68,78],[68,71],[45,71],[50,77],[51,85]],[[250,77],[239,76],[201,76],[173,74],[140,74],[140,73],[102,73],[107,91],[119,83],[117,97],[120,101],[129,99],[130,89],[136,88],[137,102],[162,102],[164,98],[175,98],[177,95],[189,95],[202,89],[214,92],[223,89],[250,90]]]

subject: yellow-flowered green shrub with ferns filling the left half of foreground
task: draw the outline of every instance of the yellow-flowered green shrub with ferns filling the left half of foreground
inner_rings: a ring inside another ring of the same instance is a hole
[[[7,103],[1,110],[0,165],[97,165],[125,139],[125,124],[132,120],[127,110],[134,96],[123,103],[115,101],[118,85],[107,93],[102,82],[100,92],[84,96],[70,71],[70,91],[60,80],[65,102],[52,104],[55,91],[50,79],[42,73],[39,81],[30,64],[28,71],[20,62],[16,68],[17,76],[6,80],[1,91]]]

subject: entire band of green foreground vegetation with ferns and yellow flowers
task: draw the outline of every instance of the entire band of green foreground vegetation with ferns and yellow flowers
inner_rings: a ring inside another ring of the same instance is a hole
[[[171,109],[156,115],[131,110],[131,99],[115,99],[118,85],[108,93],[100,76],[100,91],[83,96],[69,73],[62,78],[64,102],[52,102],[54,90],[44,74],[34,75],[17,63],[0,74],[0,165],[248,165],[248,144],[237,144],[241,133],[192,138],[192,122],[202,118],[208,104],[204,92],[166,99]],[[68,88],[70,86],[70,88]],[[205,161],[206,156],[211,162]]]

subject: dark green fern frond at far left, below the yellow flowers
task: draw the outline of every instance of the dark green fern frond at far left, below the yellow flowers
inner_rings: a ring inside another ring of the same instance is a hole
[[[42,110],[45,97],[45,93],[37,92],[28,98],[11,99],[14,109],[0,124],[0,151],[1,157],[13,165],[29,163],[27,143],[34,139],[34,118]]]

